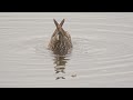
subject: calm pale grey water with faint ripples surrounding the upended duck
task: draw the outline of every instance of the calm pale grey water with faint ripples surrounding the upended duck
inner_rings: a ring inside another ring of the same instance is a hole
[[[64,18],[73,50],[48,50]],[[133,13],[0,13],[0,87],[133,87]]]

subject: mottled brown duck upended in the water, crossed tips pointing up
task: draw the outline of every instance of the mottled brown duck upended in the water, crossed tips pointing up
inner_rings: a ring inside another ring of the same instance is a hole
[[[49,42],[49,49],[52,50],[54,54],[65,56],[69,53],[69,51],[71,51],[73,47],[71,36],[62,28],[64,19],[60,22],[60,24],[55,19],[53,19],[53,22],[57,29],[54,30]]]

